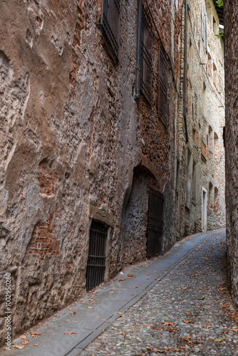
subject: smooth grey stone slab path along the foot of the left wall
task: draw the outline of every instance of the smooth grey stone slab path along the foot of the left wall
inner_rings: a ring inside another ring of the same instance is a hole
[[[164,256],[126,268],[113,281],[97,288],[93,295],[86,295],[86,298],[80,302],[61,310],[46,322],[46,326],[41,323],[38,328],[34,328],[37,332],[41,332],[37,338],[31,337],[30,333],[25,333],[29,345],[25,345],[24,349],[18,350],[12,347],[11,352],[3,350],[1,355],[78,355],[102,333],[102,330],[107,329],[120,318],[120,313],[126,313],[128,308],[137,303],[148,290],[154,288],[158,279],[162,280],[172,273],[173,268],[183,258],[190,256],[194,248],[202,244],[207,236],[207,234],[197,234],[183,239]],[[129,278],[128,274],[133,274],[133,278]],[[125,281],[120,282],[119,279]],[[71,315],[70,312],[76,314]],[[66,331],[73,331],[75,334],[63,334]],[[14,340],[14,345],[20,345],[21,342],[22,339],[19,337]]]

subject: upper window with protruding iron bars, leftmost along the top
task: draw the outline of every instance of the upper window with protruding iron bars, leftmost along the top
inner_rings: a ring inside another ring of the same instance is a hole
[[[98,27],[103,32],[115,58],[119,55],[120,0],[102,0],[102,11]]]

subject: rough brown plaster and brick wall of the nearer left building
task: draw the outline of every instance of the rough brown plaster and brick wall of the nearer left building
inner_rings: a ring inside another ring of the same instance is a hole
[[[134,99],[138,1],[120,3],[118,63],[97,26],[101,1],[0,4],[0,270],[2,286],[11,273],[14,335],[86,293],[92,219],[110,228],[106,278],[146,256],[150,187],[165,197],[162,251],[176,241],[179,7],[150,4],[148,105]],[[167,128],[157,114],[159,41],[169,59]],[[4,337],[2,287],[0,302]]]

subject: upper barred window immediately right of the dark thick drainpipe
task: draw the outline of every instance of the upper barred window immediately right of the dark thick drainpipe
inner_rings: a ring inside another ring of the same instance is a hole
[[[152,23],[148,9],[143,5],[141,13],[140,90],[150,103],[152,93]]]

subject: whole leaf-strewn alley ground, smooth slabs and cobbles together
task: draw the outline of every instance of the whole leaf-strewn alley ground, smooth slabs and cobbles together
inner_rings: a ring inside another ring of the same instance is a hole
[[[2,355],[238,355],[225,253],[224,230],[187,237],[44,320],[15,340],[21,350]]]

